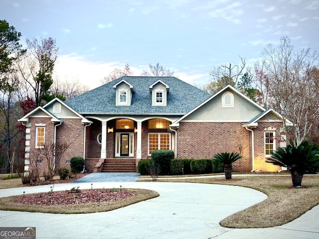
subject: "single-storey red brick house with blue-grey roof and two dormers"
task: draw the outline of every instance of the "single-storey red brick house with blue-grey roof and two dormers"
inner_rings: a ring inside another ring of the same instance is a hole
[[[132,172],[153,150],[170,149],[176,158],[212,158],[239,152],[234,171],[277,171],[265,163],[286,146],[284,120],[231,86],[215,95],[175,77],[125,76],[62,102],[54,99],[19,119],[26,125],[25,171],[46,162],[37,148],[66,142],[57,167],[81,156],[89,172]]]

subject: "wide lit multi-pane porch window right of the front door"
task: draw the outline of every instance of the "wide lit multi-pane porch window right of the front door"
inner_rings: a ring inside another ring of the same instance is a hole
[[[149,133],[149,155],[153,150],[169,150],[170,133]]]

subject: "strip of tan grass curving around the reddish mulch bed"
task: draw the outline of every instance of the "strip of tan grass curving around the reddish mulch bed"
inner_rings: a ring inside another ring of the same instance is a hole
[[[21,212],[40,212],[40,213],[56,213],[56,214],[78,214],[78,213],[97,213],[107,212],[118,208],[123,208],[141,201],[160,196],[159,193],[146,189],[125,189],[134,193],[127,199],[116,200],[105,203],[88,203],[81,205],[65,205],[65,206],[39,206],[39,205],[25,205],[13,202],[17,197],[11,196],[0,198],[0,210],[3,211],[21,211]]]

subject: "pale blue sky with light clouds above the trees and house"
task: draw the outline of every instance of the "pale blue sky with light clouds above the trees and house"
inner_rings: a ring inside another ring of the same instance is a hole
[[[55,77],[90,89],[114,68],[160,63],[203,86],[221,64],[247,66],[288,36],[319,50],[319,0],[0,0],[0,19],[25,39],[52,37]]]

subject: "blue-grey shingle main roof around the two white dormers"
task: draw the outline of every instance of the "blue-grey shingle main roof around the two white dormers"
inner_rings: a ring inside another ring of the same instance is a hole
[[[115,90],[113,86],[125,80],[134,86],[131,106],[115,105]],[[152,106],[152,94],[149,87],[161,80],[169,86],[167,106]],[[150,115],[183,115],[211,97],[175,77],[135,77],[124,76],[80,96],[65,102],[80,114],[150,114]]]

